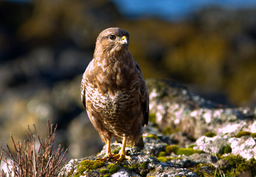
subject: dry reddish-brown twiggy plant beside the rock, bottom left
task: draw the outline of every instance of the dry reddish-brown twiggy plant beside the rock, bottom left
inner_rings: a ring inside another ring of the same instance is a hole
[[[24,144],[19,141],[15,143],[13,136],[10,134],[14,151],[7,144],[7,150],[1,147],[0,163],[3,154],[6,154],[11,160],[11,162],[7,162],[7,159],[3,158],[3,161],[7,164],[9,176],[55,176],[57,167],[65,161],[64,157],[67,150],[61,148],[60,145],[57,149],[53,146],[57,125],[53,128],[53,125],[50,126],[49,121],[47,122],[48,137],[44,140],[39,137],[35,125],[33,126],[34,134],[31,133],[28,126],[27,140],[24,141]]]

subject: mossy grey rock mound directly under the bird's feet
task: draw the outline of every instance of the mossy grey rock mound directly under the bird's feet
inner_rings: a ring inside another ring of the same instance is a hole
[[[118,149],[118,147],[121,147],[121,144],[113,144],[111,147],[112,149]],[[180,168],[170,161],[165,163],[160,162],[158,159],[139,151],[138,147],[126,147],[126,150],[130,150],[132,160],[123,160],[122,163],[119,164],[105,162],[96,169],[89,169],[88,171],[82,172],[82,176],[198,176],[195,172]],[[103,149],[97,157],[72,159],[61,168],[58,176],[76,176],[79,172],[77,166],[80,162],[84,160],[97,162],[96,159],[104,157],[104,153],[105,149]],[[109,165],[114,166],[117,171],[111,172]]]

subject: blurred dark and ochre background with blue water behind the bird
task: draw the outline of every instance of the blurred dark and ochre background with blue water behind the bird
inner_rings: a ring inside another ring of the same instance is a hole
[[[101,150],[80,101],[82,73],[103,29],[130,33],[145,78],[168,78],[229,107],[256,103],[256,1],[0,0],[0,145],[27,125],[69,158]]]

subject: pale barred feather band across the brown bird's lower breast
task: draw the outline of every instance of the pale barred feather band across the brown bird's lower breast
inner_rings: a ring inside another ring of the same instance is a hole
[[[122,117],[130,109],[133,104],[131,100],[133,100],[134,92],[135,89],[102,92],[98,87],[89,87],[86,89],[86,100],[90,100],[94,110],[101,115],[115,119]]]

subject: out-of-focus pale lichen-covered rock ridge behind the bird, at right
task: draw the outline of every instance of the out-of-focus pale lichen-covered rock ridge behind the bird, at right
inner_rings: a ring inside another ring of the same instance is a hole
[[[150,113],[162,132],[185,132],[197,139],[207,132],[234,134],[242,130],[255,132],[254,111],[249,108],[226,108],[191,95],[186,87],[166,80],[147,80]],[[250,131],[249,130],[249,131]]]

